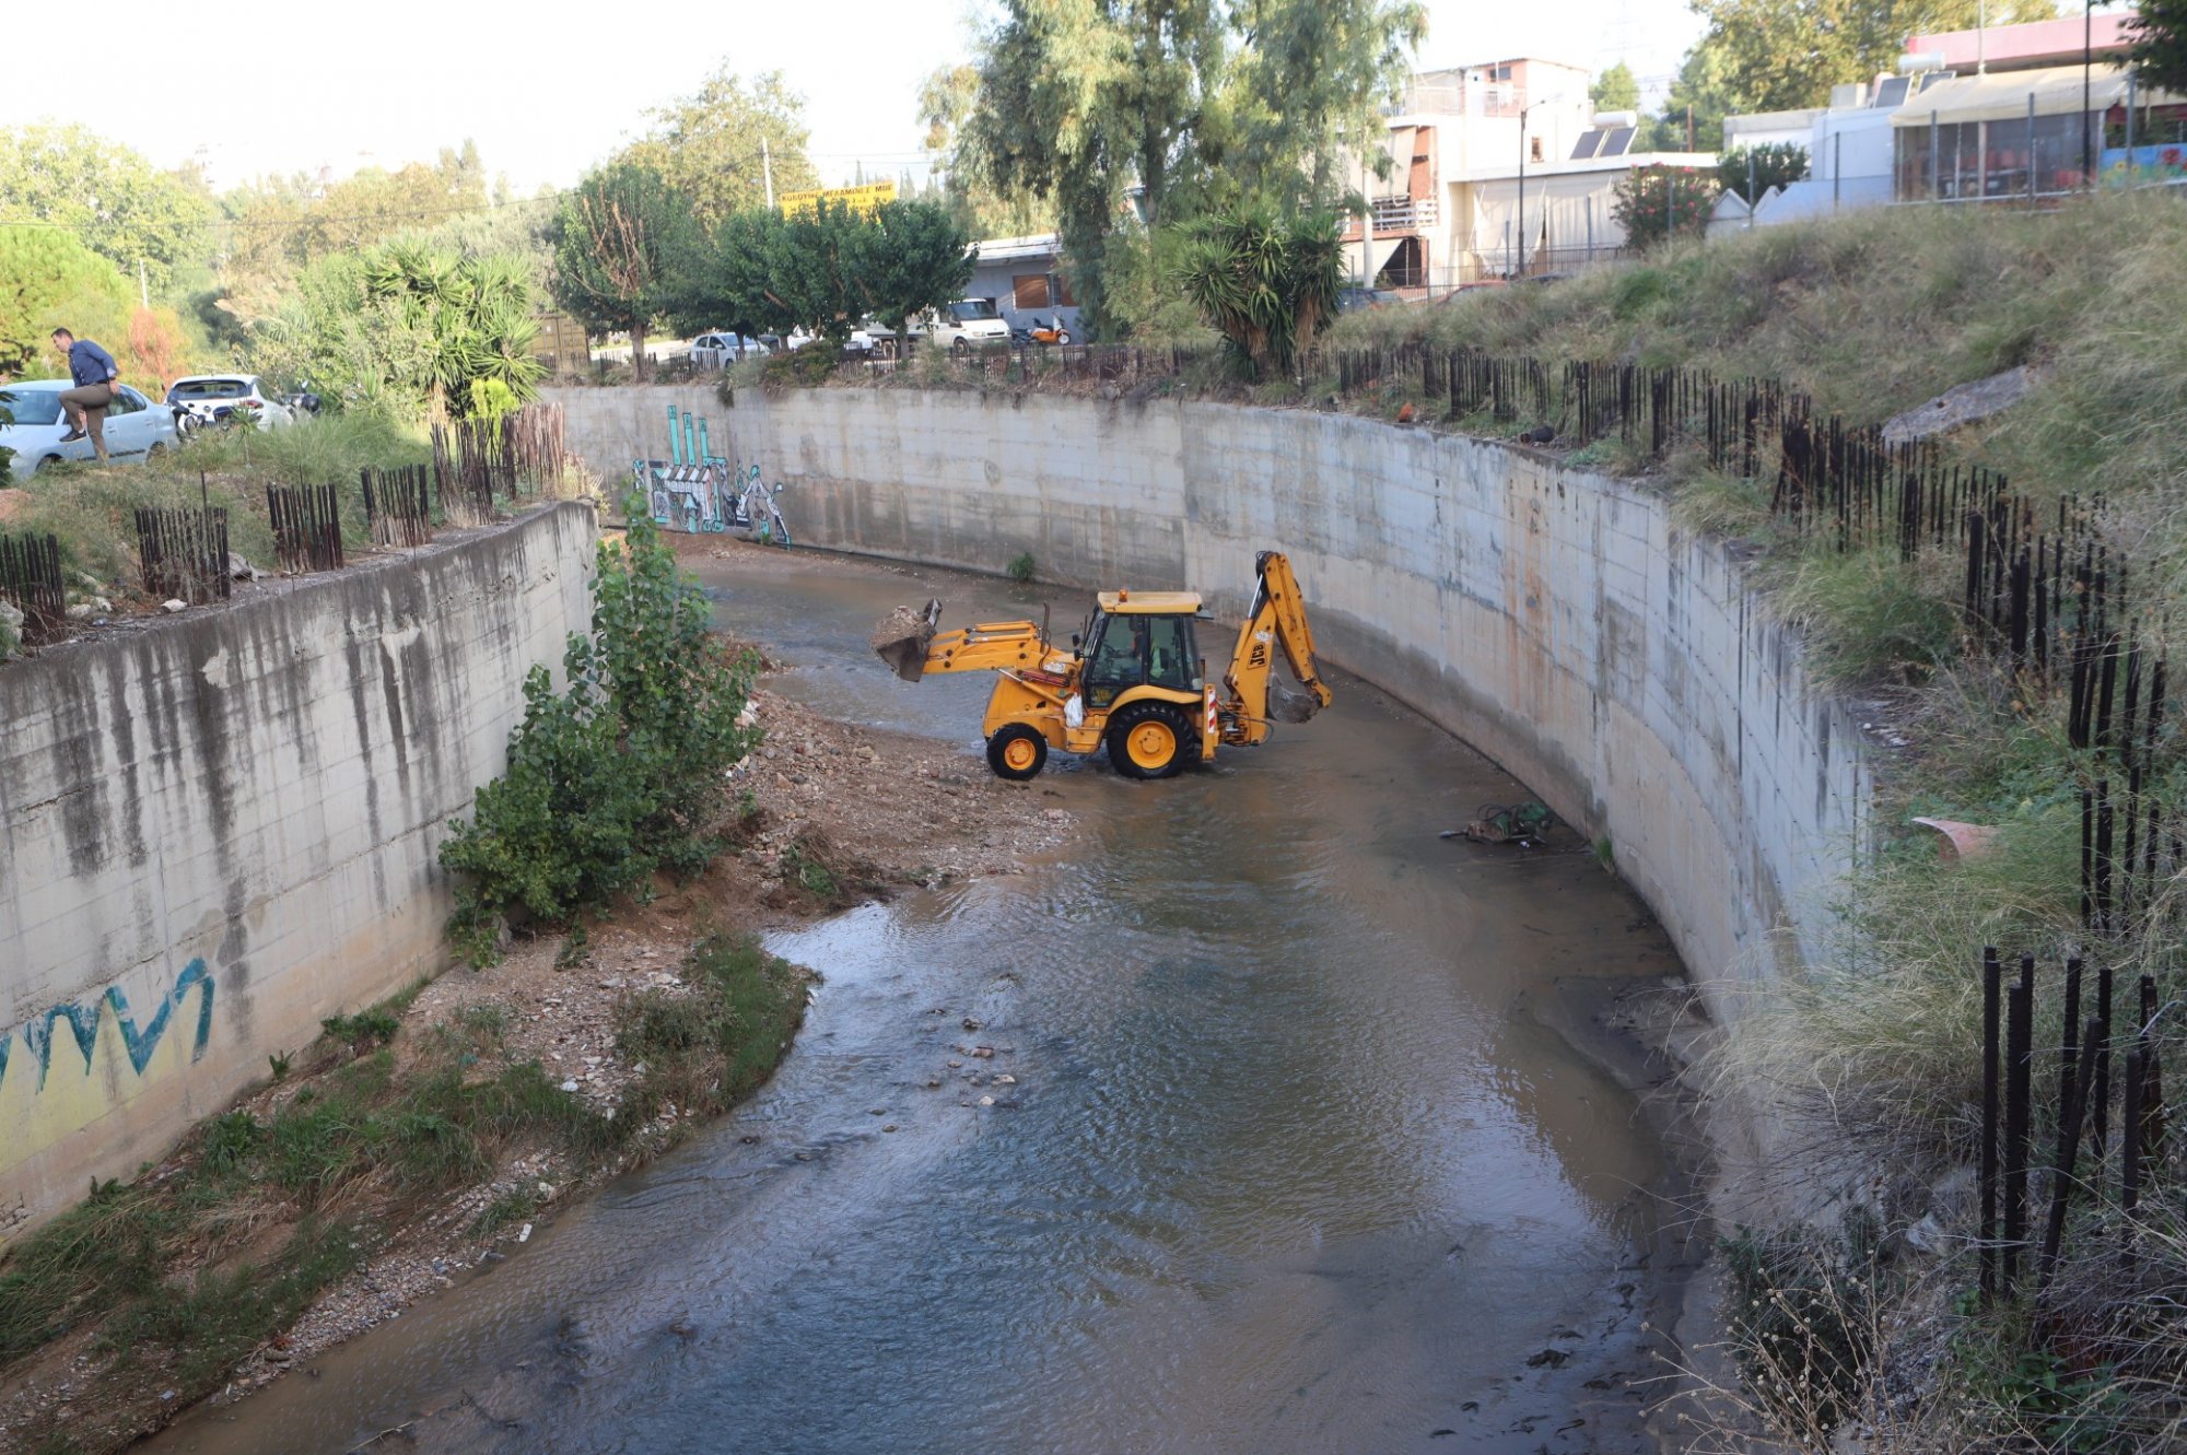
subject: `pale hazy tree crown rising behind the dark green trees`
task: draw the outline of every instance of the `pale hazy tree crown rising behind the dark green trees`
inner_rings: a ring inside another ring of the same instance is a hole
[[[652,131],[632,142],[621,159],[667,177],[709,227],[765,203],[768,166],[774,168],[776,197],[820,186],[805,155],[811,135],[805,103],[783,85],[779,70],[744,81],[724,61],[693,94],[650,116]]]

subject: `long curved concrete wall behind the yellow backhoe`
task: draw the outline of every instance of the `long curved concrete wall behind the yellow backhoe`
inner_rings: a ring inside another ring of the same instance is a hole
[[[1041,579],[1194,588],[1231,616],[1282,546],[1323,655],[1474,743],[1675,937],[1719,1016],[1811,939],[1863,835],[1857,723],[1728,555],[1629,481],[1352,415],[912,389],[564,389],[604,478],[667,406],[790,483],[796,540]],[[1341,703],[1338,703],[1341,710]],[[1328,721],[1328,719],[1325,719]],[[1789,933],[1785,933],[1789,931]]]

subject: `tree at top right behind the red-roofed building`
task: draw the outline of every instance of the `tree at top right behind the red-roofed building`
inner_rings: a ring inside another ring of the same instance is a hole
[[[1708,20],[1701,46],[1723,59],[1723,81],[1747,109],[1824,105],[1831,87],[1892,70],[1909,35],[1966,31],[1981,0],[1691,0]],[[2058,0],[1997,0],[1988,24],[2051,20]]]

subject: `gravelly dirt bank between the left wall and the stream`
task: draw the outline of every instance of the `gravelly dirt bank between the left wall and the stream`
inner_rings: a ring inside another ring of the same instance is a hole
[[[700,1016],[711,970],[695,946],[746,942],[910,885],[1024,872],[1067,835],[1056,800],[949,745],[833,723],[765,688],[755,708],[765,743],[730,784],[735,848],[698,880],[663,880],[650,902],[625,902],[582,937],[518,939],[503,963],[451,970],[381,1007],[385,1020],[352,1016],[297,1053],[168,1162],[109,1193],[105,1230],[160,1243],[160,1265],[103,1267],[83,1293],[31,1309],[7,1287],[28,1245],[15,1250],[15,1267],[0,1265],[0,1293],[17,1302],[0,1309],[0,1359],[13,1355],[0,1370],[0,1453],[120,1448],[195,1398],[245,1398],[470,1269],[523,1256],[534,1226],[573,1193],[656,1156],[748,1090],[717,1062],[660,1079],[665,1057],[650,1046],[676,1044],[682,1012],[700,1027],[726,1022]],[[805,981],[792,977],[783,994],[794,1027]],[[787,1031],[748,1079],[783,1049]],[[499,1079],[481,1081],[479,1068]],[[496,1095],[490,1119],[466,1123],[477,1101],[448,1101],[451,1075],[464,1095]],[[381,1143],[308,1147],[350,1160],[319,1180],[286,1178],[302,1156],[289,1140],[313,1125],[304,1112],[332,1105],[370,1114]],[[453,1178],[431,1162],[448,1140],[435,1116],[479,1127]],[[418,1147],[389,1151],[420,1127]],[[267,1173],[221,1182],[206,1173],[221,1156]],[[232,1206],[208,1223],[192,1199],[210,1186]],[[173,1232],[177,1219],[188,1237]],[[306,1243],[313,1252],[300,1254]],[[267,1289],[295,1298],[282,1304]],[[166,1328],[155,1302],[192,1306],[225,1344]]]

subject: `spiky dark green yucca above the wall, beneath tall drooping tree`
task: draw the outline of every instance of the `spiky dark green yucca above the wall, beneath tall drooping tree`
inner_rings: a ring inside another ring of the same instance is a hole
[[[1341,260],[1334,216],[1251,205],[1194,223],[1174,282],[1262,380],[1290,374],[1336,315]]]

